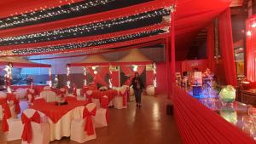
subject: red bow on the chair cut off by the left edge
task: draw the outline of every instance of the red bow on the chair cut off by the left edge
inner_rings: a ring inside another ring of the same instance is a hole
[[[9,109],[9,105],[7,103],[4,103],[2,105],[3,109],[3,121],[2,121],[2,130],[3,132],[9,131],[9,125],[7,123],[7,119],[11,118],[11,112]]]

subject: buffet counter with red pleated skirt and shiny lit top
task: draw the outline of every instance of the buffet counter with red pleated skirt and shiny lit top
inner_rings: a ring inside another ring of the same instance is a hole
[[[172,101],[183,143],[255,143],[254,107],[239,102],[223,105],[218,95],[194,97],[176,85]]]

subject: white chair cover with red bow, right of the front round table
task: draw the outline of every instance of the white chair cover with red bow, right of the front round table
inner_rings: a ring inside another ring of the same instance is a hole
[[[96,104],[90,103],[85,107],[89,110],[89,112],[91,112],[96,107]],[[70,140],[77,141],[79,143],[84,143],[85,141],[90,141],[93,139],[96,139],[95,126],[94,126],[94,134],[87,135],[87,132],[84,132],[84,119],[83,118],[73,119],[71,123]]]

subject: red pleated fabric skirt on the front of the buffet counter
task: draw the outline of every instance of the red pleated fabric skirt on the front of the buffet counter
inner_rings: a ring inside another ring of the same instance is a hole
[[[173,92],[174,118],[184,144],[254,144],[249,137],[217,112],[202,105],[176,85]]]

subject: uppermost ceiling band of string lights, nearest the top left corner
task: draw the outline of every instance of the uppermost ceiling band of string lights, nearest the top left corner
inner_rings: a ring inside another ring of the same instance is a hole
[[[62,5],[60,7],[44,9],[40,11],[34,11],[31,13],[20,14],[15,16],[10,16],[0,20],[0,30],[7,29],[15,26],[20,26],[24,24],[32,24],[33,22],[38,22],[38,20],[51,19],[55,17],[61,17],[64,14],[72,14],[84,11],[85,9],[93,8],[99,5],[108,4],[114,2],[115,0],[90,0],[80,3],[69,3],[68,5]]]

